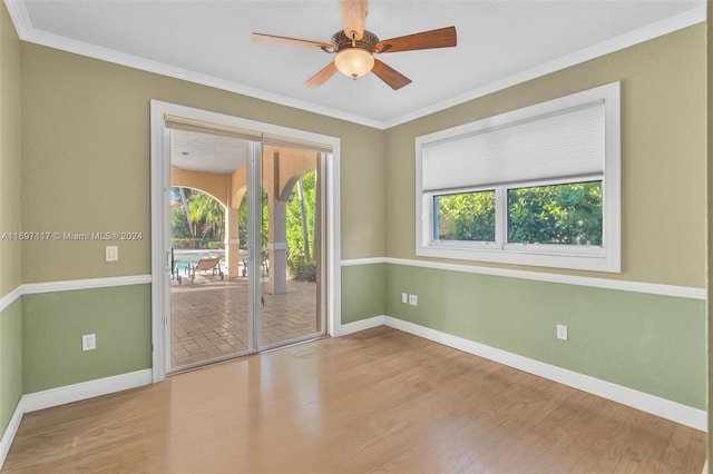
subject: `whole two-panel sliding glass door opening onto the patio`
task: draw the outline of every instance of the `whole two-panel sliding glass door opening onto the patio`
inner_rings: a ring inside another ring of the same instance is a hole
[[[324,154],[169,128],[167,373],[325,334]]]

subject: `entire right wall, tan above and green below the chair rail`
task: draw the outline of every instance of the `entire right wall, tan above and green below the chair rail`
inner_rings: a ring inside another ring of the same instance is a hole
[[[706,26],[696,24],[393,127],[387,257],[706,288]],[[417,258],[414,138],[604,83],[622,83],[622,273]],[[385,314],[706,408],[697,299],[387,265]],[[400,303],[401,292],[419,306]],[[557,323],[572,338],[555,337]]]

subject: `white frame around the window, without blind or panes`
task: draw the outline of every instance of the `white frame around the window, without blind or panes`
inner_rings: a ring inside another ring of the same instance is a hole
[[[416,145],[416,255],[447,259],[621,271],[621,105],[619,82],[612,82],[570,96],[488,117],[462,126],[417,137]],[[577,176],[489,182],[423,190],[423,150],[438,142],[452,142],[473,132],[537,120],[593,101],[604,106],[604,171]],[[525,187],[602,180],[602,246],[507,243],[507,190]],[[433,198],[448,194],[495,189],[496,241],[434,240]]]

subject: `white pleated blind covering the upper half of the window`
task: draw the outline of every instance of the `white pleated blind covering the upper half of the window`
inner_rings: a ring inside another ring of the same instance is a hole
[[[422,190],[604,172],[605,103],[596,100],[426,144]]]

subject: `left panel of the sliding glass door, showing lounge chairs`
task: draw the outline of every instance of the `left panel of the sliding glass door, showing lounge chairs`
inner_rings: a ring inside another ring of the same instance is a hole
[[[247,179],[260,144],[170,130],[170,363],[177,372],[255,350]]]

